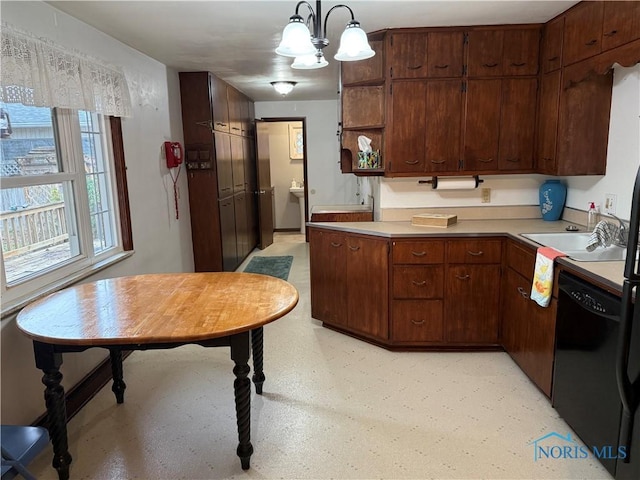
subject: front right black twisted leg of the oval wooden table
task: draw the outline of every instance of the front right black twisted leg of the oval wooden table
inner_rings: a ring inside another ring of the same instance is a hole
[[[249,469],[249,460],[253,453],[251,445],[251,380],[249,380],[249,332],[232,335],[231,359],[235,362],[233,373],[236,376],[233,390],[236,399],[236,420],[238,423],[238,449],[243,470]]]

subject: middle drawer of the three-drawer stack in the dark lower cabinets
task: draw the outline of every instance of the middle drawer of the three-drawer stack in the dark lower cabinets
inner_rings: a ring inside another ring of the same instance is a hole
[[[393,267],[393,298],[442,298],[444,267]]]

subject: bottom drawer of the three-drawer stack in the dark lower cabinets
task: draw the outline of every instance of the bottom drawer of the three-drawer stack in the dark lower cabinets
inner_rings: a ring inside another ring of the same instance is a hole
[[[393,302],[391,338],[394,342],[441,342],[442,300]]]

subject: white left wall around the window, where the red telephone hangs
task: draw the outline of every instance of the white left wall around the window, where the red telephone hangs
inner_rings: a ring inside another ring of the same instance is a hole
[[[133,117],[122,121],[135,254],[90,280],[149,272],[193,271],[186,175],[179,179],[180,219],[173,185],[163,166],[165,140],[182,142],[177,72],[42,2],[3,2],[2,20],[39,37],[124,68]],[[44,413],[42,372],[35,368],[31,341],[13,318],[1,325],[2,422],[31,423]],[[63,385],[77,383],[106,351],[64,356]]]

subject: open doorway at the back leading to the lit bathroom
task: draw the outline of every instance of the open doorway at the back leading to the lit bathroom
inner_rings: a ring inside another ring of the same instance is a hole
[[[306,240],[309,221],[306,117],[269,117],[261,121],[268,126],[271,152],[273,230],[293,232],[302,227]],[[296,186],[303,188],[302,206],[295,196],[299,189],[295,193],[290,191],[294,181]]]

